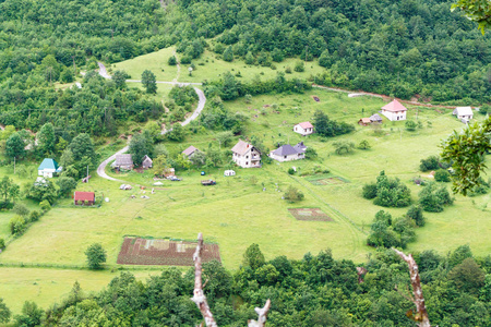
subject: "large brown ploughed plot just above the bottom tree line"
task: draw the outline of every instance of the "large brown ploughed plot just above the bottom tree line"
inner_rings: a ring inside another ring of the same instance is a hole
[[[170,240],[124,238],[118,255],[119,265],[192,266],[196,243]],[[204,244],[204,263],[220,259],[218,244]]]

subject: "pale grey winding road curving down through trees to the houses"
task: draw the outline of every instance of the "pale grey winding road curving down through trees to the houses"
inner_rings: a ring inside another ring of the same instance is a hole
[[[99,75],[103,76],[104,78],[111,78],[111,76],[107,73],[106,66],[105,66],[101,62],[97,62],[97,64],[99,65]],[[139,80],[127,80],[127,82],[130,82],[130,83],[141,83],[142,81],[139,81]],[[180,83],[180,82],[177,82],[177,81],[175,81],[175,82],[161,82],[161,81],[157,81],[157,83],[161,83],[161,84],[173,84],[173,85],[177,84],[177,85],[179,85],[179,86],[185,86],[185,85],[202,85],[201,83]],[[197,98],[199,98],[196,109],[193,111],[193,113],[192,113],[190,117],[188,117],[183,122],[180,123],[182,126],[185,126],[185,125],[189,124],[191,121],[195,120],[195,119],[200,116],[201,111],[203,111],[204,106],[205,106],[205,104],[206,104],[206,97],[205,97],[205,95],[204,95],[204,92],[203,92],[202,89],[197,88],[197,87],[194,87],[194,92],[197,94]],[[170,131],[172,131],[172,129],[164,130],[164,131],[161,131],[160,134],[164,135],[164,134],[166,134],[166,133],[168,133],[168,132],[170,132]],[[99,177],[101,177],[103,179],[106,179],[106,180],[122,182],[121,180],[118,180],[118,179],[115,179],[115,178],[111,178],[110,175],[108,175],[108,174],[106,173],[106,166],[107,166],[109,162],[116,160],[116,156],[117,156],[117,155],[124,154],[125,152],[128,152],[129,148],[130,148],[130,147],[127,145],[125,147],[123,147],[122,149],[120,149],[119,152],[117,152],[116,154],[113,154],[112,156],[110,156],[109,158],[107,158],[106,160],[104,160],[103,162],[100,162],[99,167],[97,167],[97,174],[98,174]]]

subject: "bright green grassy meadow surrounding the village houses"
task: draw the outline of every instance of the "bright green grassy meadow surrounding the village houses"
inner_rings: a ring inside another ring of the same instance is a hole
[[[115,69],[124,69],[133,78],[140,78],[139,75],[144,69],[151,69],[157,80],[172,81],[177,78],[177,69],[167,65],[167,59],[172,51],[173,49],[169,48],[139,57],[118,63]],[[228,63],[215,57],[205,52],[196,61],[197,69],[193,76],[182,74],[187,73],[183,70],[179,81],[201,82],[204,78],[218,77],[231,69],[236,72],[240,70],[244,80],[261,72],[264,73],[264,78],[276,74],[270,68],[243,68],[243,62]],[[204,65],[200,65],[200,62]],[[294,63],[295,60],[290,60],[277,66],[283,70],[283,65],[292,66]],[[310,65],[309,63],[304,73],[292,75],[307,77],[319,71],[315,64],[312,64],[312,68]],[[157,97],[165,97],[169,89],[170,86],[159,84]],[[320,102],[314,101],[313,96],[318,96]],[[274,104],[277,105],[276,110],[272,109]],[[163,181],[164,185],[154,187],[155,194],[151,192],[154,183],[151,172],[117,175],[109,172],[133,185],[131,191],[121,191],[119,182],[103,180],[94,172],[95,177],[89,183],[79,184],[77,190],[94,191],[99,199],[103,196],[109,197],[108,203],[81,208],[74,207],[70,198],[60,201],[24,235],[9,244],[0,255],[0,263],[82,267],[85,265],[85,249],[99,242],[108,253],[107,266],[116,268],[124,235],[192,240],[196,238],[197,232],[203,232],[205,240],[219,244],[223,263],[229,269],[240,266],[242,254],[251,243],[261,246],[266,259],[278,255],[301,258],[308,252],[316,254],[328,247],[337,258],[362,263],[367,254],[373,251],[364,245],[370,223],[374,214],[383,209],[361,197],[362,185],[374,181],[379,172],[385,170],[386,174],[398,177],[411,189],[412,199],[416,202],[419,186],[410,180],[424,174],[418,171],[420,159],[439,154],[442,140],[453,130],[462,129],[463,124],[451,114],[451,110],[409,106],[408,119],[417,117],[422,122],[422,129],[415,132],[406,131],[404,122],[390,122],[384,119],[381,130],[357,125],[354,133],[326,141],[318,135],[302,137],[292,132],[292,125],[312,120],[313,112],[318,109],[326,112],[331,119],[356,124],[358,119],[369,117],[383,105],[384,101],[380,98],[348,98],[346,94],[319,88],[303,95],[259,96],[250,104],[246,104],[243,99],[226,102],[231,112],[239,111],[249,117],[244,136],[260,137],[270,149],[274,149],[278,142],[296,144],[303,141],[307,146],[318,152],[319,157],[315,160],[284,164],[274,161],[261,169],[237,168],[237,175],[229,178],[224,177],[224,169],[206,169],[205,178],[200,175],[201,170],[178,171],[182,181]],[[338,156],[333,146],[333,142],[338,140],[348,140],[355,144],[367,140],[372,147],[369,150],[355,149],[351,154]],[[119,142],[101,149],[103,157],[122,147],[123,143]],[[189,134],[182,144],[166,143],[166,147],[171,153],[181,152],[189,145],[204,150],[211,143],[217,144],[215,132],[203,131]],[[226,148],[231,148],[232,145]],[[292,166],[297,168],[298,173],[289,175],[287,170]],[[342,182],[326,185],[312,183],[311,180],[320,177],[302,174],[315,166],[330,170],[323,178],[338,177]],[[11,173],[11,168],[0,168],[0,174]],[[216,179],[217,185],[202,186],[200,181],[208,178]],[[14,179],[21,184],[32,182],[32,178],[27,177],[19,179],[14,175]],[[288,185],[301,190],[306,195],[304,201],[289,204],[282,199]],[[140,186],[146,189],[141,190]],[[142,198],[143,195],[149,198]],[[445,254],[458,245],[469,244],[477,255],[491,252],[488,241],[491,228],[491,196],[455,197],[455,204],[443,213],[426,214],[427,226],[417,230],[418,240],[409,245],[408,251],[434,249]],[[27,205],[29,208],[36,207],[34,203]],[[296,220],[288,213],[288,208],[295,207],[321,208],[333,221]],[[407,208],[386,210],[398,217],[405,214]],[[12,216],[11,213],[0,213],[0,237],[8,235],[8,221]],[[139,274],[143,277],[148,272]],[[52,301],[59,300],[59,294],[67,294],[74,280],[79,280],[82,288],[87,286],[86,290],[97,290],[112,276],[109,270],[91,272],[3,267],[0,268],[0,279],[8,282],[0,283],[0,294],[14,311],[17,311],[25,300],[33,299],[46,307]],[[48,287],[51,283],[52,290]],[[22,295],[15,296],[16,294]],[[32,298],[34,294],[36,298]]]

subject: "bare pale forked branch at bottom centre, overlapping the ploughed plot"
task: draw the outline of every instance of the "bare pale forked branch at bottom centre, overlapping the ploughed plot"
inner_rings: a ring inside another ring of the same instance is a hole
[[[191,301],[196,303],[197,308],[200,308],[201,314],[205,320],[206,327],[218,327],[213,317],[212,311],[209,310],[208,302],[206,301],[206,296],[203,292],[203,279],[202,279],[202,264],[201,264],[201,252],[203,251],[203,234],[197,234],[197,245],[196,251],[193,255],[194,261],[194,295],[191,298]],[[264,323],[266,323],[267,312],[271,307],[271,301],[267,299],[266,304],[263,307],[256,307],[255,312],[259,315],[256,320],[249,320],[248,327],[264,327]],[[201,324],[202,326],[203,324]]]

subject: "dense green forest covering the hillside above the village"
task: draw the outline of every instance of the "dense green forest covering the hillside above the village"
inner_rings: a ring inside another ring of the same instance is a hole
[[[111,134],[100,125],[118,121],[108,109],[124,102],[120,93],[91,89],[93,99],[79,101],[76,90],[52,84],[72,82],[75,71],[95,69],[97,60],[117,62],[171,45],[182,61],[204,47],[224,60],[264,66],[286,57],[316,58],[325,68],[311,77],[318,84],[489,102],[490,34],[450,8],[438,0],[0,1],[0,123],[36,131],[48,110],[72,109],[61,101],[70,98],[83,111],[72,121],[97,117],[98,126],[83,129]],[[96,97],[104,101],[94,105]]]

